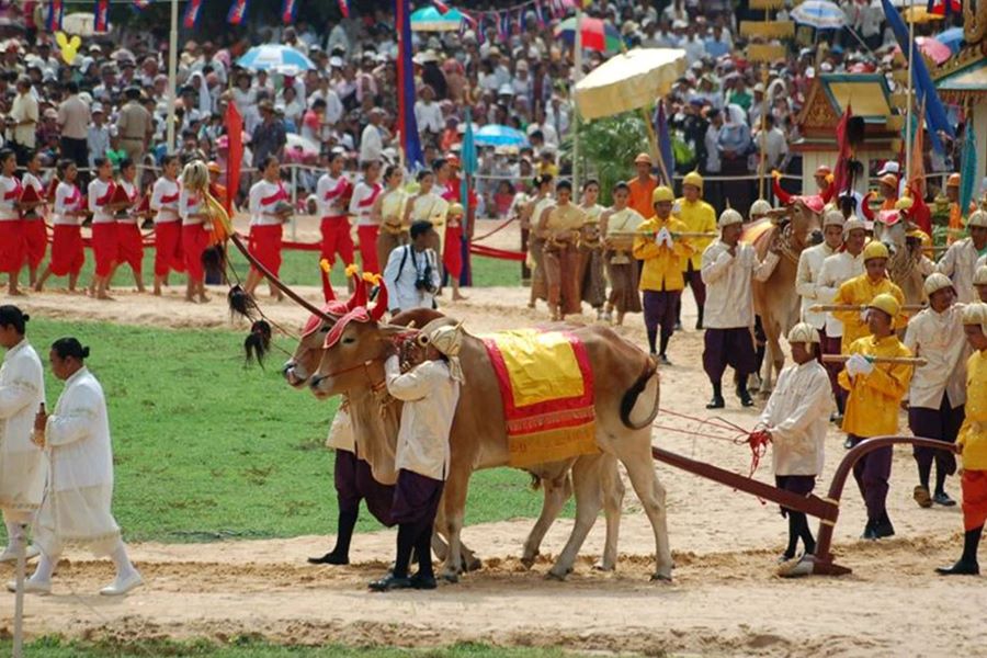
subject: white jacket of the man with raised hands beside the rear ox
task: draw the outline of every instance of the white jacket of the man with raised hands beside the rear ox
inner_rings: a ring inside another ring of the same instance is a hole
[[[705,318],[707,329],[753,327],[753,293],[751,276],[767,281],[778,264],[776,253],[769,253],[763,262],[750,245],[737,245],[737,256],[729,247],[715,240],[703,251],[703,283],[706,284]]]

